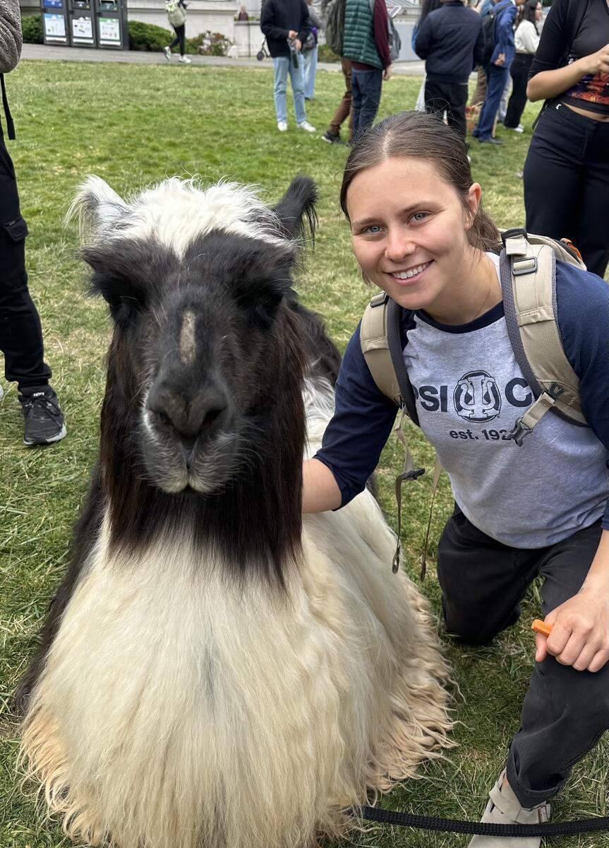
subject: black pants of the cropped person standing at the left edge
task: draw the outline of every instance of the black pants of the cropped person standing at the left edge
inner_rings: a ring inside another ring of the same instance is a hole
[[[0,130],[0,351],[7,380],[28,393],[47,386],[51,369],[44,361],[40,317],[27,287],[26,235],[13,162]]]

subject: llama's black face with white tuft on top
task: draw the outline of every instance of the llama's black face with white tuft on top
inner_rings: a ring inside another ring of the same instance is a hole
[[[304,207],[282,220],[290,192],[277,215],[223,187],[227,226],[217,226],[217,204],[206,226],[206,192],[169,182],[170,198],[161,186],[136,204],[115,203],[100,227],[103,240],[85,258],[116,325],[116,385],[108,377],[108,392],[123,393],[139,419],[131,429],[147,477],[165,492],[209,494],[249,459],[252,433],[274,394],[283,355],[275,330]],[[309,184],[310,204],[312,191]]]

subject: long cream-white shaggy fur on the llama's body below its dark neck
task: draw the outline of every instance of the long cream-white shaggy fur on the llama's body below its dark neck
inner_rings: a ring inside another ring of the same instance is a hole
[[[319,377],[332,378],[330,346],[324,356],[315,373],[309,355],[306,382],[290,360],[310,452],[333,408]],[[292,433],[301,455],[303,436]],[[278,583],[261,574],[257,547],[235,572],[230,546],[198,533],[195,512],[121,544],[103,443],[100,460],[81,524],[89,544],[77,544],[21,696],[27,774],[73,840],[310,848],[448,745],[449,670],[426,603],[391,574],[395,537],[368,492],[304,517]],[[255,505],[241,515],[253,536],[256,516]]]

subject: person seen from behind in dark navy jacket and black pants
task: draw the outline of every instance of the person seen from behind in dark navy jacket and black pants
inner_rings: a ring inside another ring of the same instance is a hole
[[[480,15],[461,0],[444,0],[418,28],[415,50],[425,59],[425,111],[446,111],[449,125],[465,137],[468,79],[484,55]]]

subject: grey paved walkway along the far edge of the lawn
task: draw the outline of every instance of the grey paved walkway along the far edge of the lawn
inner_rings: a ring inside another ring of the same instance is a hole
[[[192,64],[231,65],[235,68],[270,68],[270,59],[229,59],[226,56],[190,56]],[[21,59],[59,59],[66,62],[127,62],[130,64],[166,64],[163,53],[145,53],[140,50],[95,50],[86,47],[54,47],[51,44],[24,44]],[[178,60],[174,59],[175,64]],[[424,62],[395,62],[394,74],[423,76]],[[319,62],[321,70],[340,71],[336,62]]]

